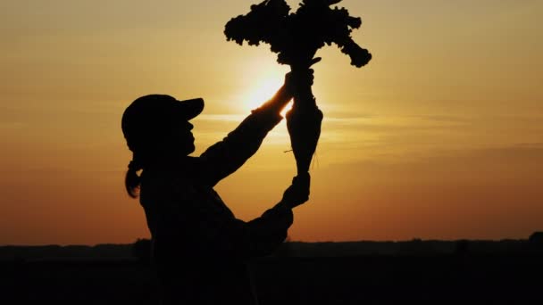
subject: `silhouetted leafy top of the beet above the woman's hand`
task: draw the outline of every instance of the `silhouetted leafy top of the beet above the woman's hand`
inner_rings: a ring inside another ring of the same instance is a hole
[[[244,41],[269,44],[278,54],[277,61],[292,67],[307,65],[324,44],[334,43],[360,68],[372,59],[372,54],[351,37],[352,29],[360,28],[362,20],[349,16],[345,8],[330,8],[340,1],[303,0],[297,12],[289,13],[285,0],[265,0],[251,5],[246,15],[232,18],[224,34],[239,45]]]

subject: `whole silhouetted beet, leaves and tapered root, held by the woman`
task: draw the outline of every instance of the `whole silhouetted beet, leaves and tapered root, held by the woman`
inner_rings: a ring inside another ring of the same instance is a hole
[[[341,0],[303,0],[296,12],[284,0],[266,0],[251,5],[246,15],[232,18],[224,29],[227,39],[238,45],[265,43],[278,54],[277,62],[288,64],[292,71],[308,69],[318,49],[332,43],[347,54],[351,64],[362,67],[372,59],[368,50],[357,45],[351,31],[362,25],[345,8],[330,7]],[[315,103],[311,87],[298,88],[287,127],[298,174],[309,165],[321,135],[322,111]]]

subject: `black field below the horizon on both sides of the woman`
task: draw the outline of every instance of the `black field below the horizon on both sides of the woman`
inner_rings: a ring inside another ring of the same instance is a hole
[[[284,243],[251,270],[262,305],[541,305],[542,237]],[[157,304],[148,244],[0,247],[0,303]]]

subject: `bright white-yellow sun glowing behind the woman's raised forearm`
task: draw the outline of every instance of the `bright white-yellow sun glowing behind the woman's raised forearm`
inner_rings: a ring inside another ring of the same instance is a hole
[[[255,80],[251,87],[254,89],[246,92],[243,95],[243,110],[252,111],[258,108],[263,103],[270,100],[273,95],[283,85],[283,79],[281,78],[260,78]],[[292,101],[281,111],[281,115],[284,117],[285,113],[292,107]]]

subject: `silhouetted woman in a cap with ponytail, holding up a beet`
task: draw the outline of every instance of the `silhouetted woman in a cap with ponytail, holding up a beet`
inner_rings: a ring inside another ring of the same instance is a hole
[[[309,198],[309,173],[294,177],[279,203],[248,222],[235,218],[213,186],[258,150],[297,87],[312,84],[313,70],[288,73],[272,99],[199,157],[189,156],[195,145],[188,121],[203,111],[203,99],[146,95],[124,111],[121,128],[133,152],[125,185],[146,213],[163,303],[257,303],[246,262],[285,240],[292,209]]]

